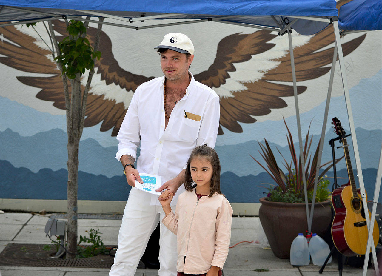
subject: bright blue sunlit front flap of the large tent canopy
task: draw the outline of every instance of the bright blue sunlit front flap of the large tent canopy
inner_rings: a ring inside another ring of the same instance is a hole
[[[94,11],[138,11],[210,15],[317,15],[337,16],[335,0],[2,0],[0,5]]]

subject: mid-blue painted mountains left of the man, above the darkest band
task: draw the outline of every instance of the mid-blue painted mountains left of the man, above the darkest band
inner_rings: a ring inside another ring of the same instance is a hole
[[[6,129],[0,132],[0,159],[10,161],[16,167],[27,167],[37,173],[39,169],[67,168],[68,136],[62,129],[52,129],[24,137]],[[108,177],[120,175],[121,163],[115,159],[118,147],[102,147],[88,138],[79,142],[79,170]]]

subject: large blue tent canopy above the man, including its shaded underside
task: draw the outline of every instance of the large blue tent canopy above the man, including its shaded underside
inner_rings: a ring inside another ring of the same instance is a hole
[[[3,6],[1,8],[1,6]],[[314,34],[338,16],[335,0],[169,0],[160,3],[144,1],[94,1],[94,0],[0,0],[0,21],[45,19],[62,15],[97,16],[91,11],[123,18],[141,18],[158,15],[156,19],[219,19],[225,23],[251,24],[282,29],[293,16],[312,16],[317,19],[299,18],[293,29],[299,34]],[[206,14],[206,12],[208,12]],[[273,18],[272,18],[273,16]],[[134,23],[140,23],[136,21]],[[129,24],[129,23],[125,23]],[[131,26],[131,23],[129,24]],[[134,25],[136,26],[136,25]]]

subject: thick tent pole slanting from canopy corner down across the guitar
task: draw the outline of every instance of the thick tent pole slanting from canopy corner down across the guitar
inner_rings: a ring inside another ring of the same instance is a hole
[[[359,159],[359,150],[358,150],[358,144],[357,144],[356,130],[355,130],[355,127],[354,127],[353,111],[351,110],[351,104],[350,104],[350,94],[349,94],[349,88],[348,88],[348,80],[347,80],[346,74],[345,74],[345,61],[343,59],[342,46],[341,46],[341,41],[340,41],[340,30],[338,29],[338,21],[333,21],[333,28],[334,28],[335,43],[337,44],[337,48],[338,48],[338,60],[340,62],[340,72],[341,72],[341,77],[342,77],[342,86],[343,86],[343,92],[344,92],[344,95],[345,95],[346,109],[348,111],[348,119],[349,119],[351,140],[353,142],[354,157],[355,157],[355,160],[356,160],[356,167],[357,167],[357,174],[358,174],[358,181],[359,181],[359,189],[361,191],[361,198],[362,198],[364,214],[365,214],[365,218],[366,218],[367,229],[369,229],[369,231],[372,231],[370,229],[369,212],[367,211],[368,209],[367,209],[365,186],[364,186],[364,183],[363,183],[361,160]],[[373,242],[373,244],[374,244],[374,242]],[[373,260],[374,260],[374,268],[376,268],[378,266],[377,265],[376,249],[374,248],[374,246],[372,246],[371,250],[372,250],[372,255],[373,255]],[[366,249],[366,251],[368,251],[368,249]],[[365,259],[365,261],[366,261],[366,259]],[[367,270],[367,266],[364,265],[364,267],[363,267],[363,275],[364,276],[366,276],[366,270]]]

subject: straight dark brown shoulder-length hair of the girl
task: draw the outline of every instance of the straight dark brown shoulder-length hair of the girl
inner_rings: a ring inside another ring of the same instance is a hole
[[[191,178],[190,164],[194,158],[205,158],[211,163],[212,166],[212,178],[210,184],[210,194],[208,197],[212,197],[215,193],[222,194],[220,191],[220,161],[215,150],[207,145],[202,145],[194,148],[187,161],[186,173],[185,173],[185,188],[191,191],[196,187],[196,183]]]

